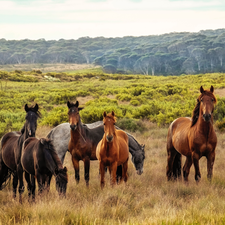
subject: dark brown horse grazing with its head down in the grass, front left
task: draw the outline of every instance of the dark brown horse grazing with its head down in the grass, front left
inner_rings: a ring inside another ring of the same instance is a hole
[[[22,146],[21,164],[25,171],[28,196],[35,199],[35,177],[38,182],[38,193],[48,190],[48,178],[52,175],[56,179],[56,190],[65,196],[68,176],[67,168],[62,166],[51,140],[46,138],[27,138]],[[30,176],[31,175],[31,176]]]

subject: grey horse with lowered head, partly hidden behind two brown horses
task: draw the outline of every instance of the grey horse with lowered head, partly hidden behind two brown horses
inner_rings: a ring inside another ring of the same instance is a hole
[[[95,128],[95,132],[99,135],[97,136],[97,141],[99,142],[104,135],[104,126],[103,121],[97,121],[91,124],[81,124],[84,130],[92,130]],[[119,127],[115,126],[116,129],[121,130]],[[145,160],[145,145],[139,144],[138,141],[129,133],[126,132],[129,138],[129,152],[131,153],[131,161],[136,169],[138,175],[143,173],[144,160]],[[54,148],[61,159],[61,162],[64,162],[66,152],[68,151],[68,144],[70,140],[70,124],[62,123],[54,127],[46,136],[52,140]],[[88,137],[87,137],[88,138]],[[121,171],[118,168],[118,173]],[[121,171],[122,172],[122,171]],[[121,173],[118,176],[122,176]]]

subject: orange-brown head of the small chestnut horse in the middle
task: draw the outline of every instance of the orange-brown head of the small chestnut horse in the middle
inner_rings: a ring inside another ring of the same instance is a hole
[[[103,113],[103,124],[104,124],[104,131],[107,142],[113,141],[113,136],[115,135],[115,123],[116,123],[116,117],[115,113],[112,111],[112,113],[109,113],[108,115],[106,112]]]

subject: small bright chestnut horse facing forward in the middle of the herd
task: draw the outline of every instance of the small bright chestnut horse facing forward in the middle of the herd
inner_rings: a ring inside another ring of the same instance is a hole
[[[116,183],[117,166],[122,165],[122,179],[127,181],[127,168],[129,158],[128,136],[122,130],[115,128],[115,114],[103,114],[104,136],[96,148],[96,156],[99,160],[101,174],[101,188],[105,185],[105,168],[108,167],[111,175],[111,184]]]

